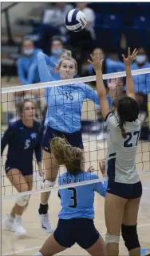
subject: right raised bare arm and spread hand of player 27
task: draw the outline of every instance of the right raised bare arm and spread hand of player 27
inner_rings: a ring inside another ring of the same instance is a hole
[[[136,91],[135,91],[135,86],[132,79],[131,65],[134,59],[136,59],[137,53],[138,52],[136,51],[136,49],[134,49],[131,55],[130,48],[128,47],[128,57],[125,58],[125,56],[122,55],[124,59],[124,65],[125,65],[125,71],[126,71],[126,90],[127,90],[126,92],[128,97],[131,97],[133,99],[136,98]]]

